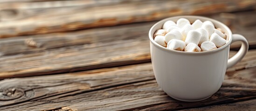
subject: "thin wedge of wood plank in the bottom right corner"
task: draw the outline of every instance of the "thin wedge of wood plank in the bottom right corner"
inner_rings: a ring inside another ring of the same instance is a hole
[[[181,111],[255,111],[256,99],[225,105],[213,105],[201,108],[193,108]]]

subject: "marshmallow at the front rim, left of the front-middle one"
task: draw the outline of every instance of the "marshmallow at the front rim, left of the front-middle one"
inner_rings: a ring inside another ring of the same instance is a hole
[[[186,47],[186,43],[182,40],[172,39],[167,43],[167,49],[183,51]]]

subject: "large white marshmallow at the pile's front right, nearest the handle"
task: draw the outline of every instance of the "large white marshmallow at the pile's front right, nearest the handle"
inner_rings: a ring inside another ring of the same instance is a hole
[[[213,33],[210,37],[210,41],[213,42],[217,48],[223,46],[226,44],[226,40],[224,38],[221,38],[218,34]]]

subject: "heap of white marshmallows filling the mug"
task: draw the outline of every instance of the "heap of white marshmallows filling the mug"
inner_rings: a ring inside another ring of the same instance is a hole
[[[168,49],[200,52],[217,49],[226,44],[226,34],[220,28],[215,29],[211,21],[197,19],[191,25],[187,19],[175,22],[168,20],[162,29],[154,34],[154,41]]]

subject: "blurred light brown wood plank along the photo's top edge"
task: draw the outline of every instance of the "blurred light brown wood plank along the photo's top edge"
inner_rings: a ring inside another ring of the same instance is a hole
[[[0,33],[1,37],[14,37],[74,31],[153,21],[176,15],[254,10],[255,5],[255,0],[72,0],[2,3]]]

